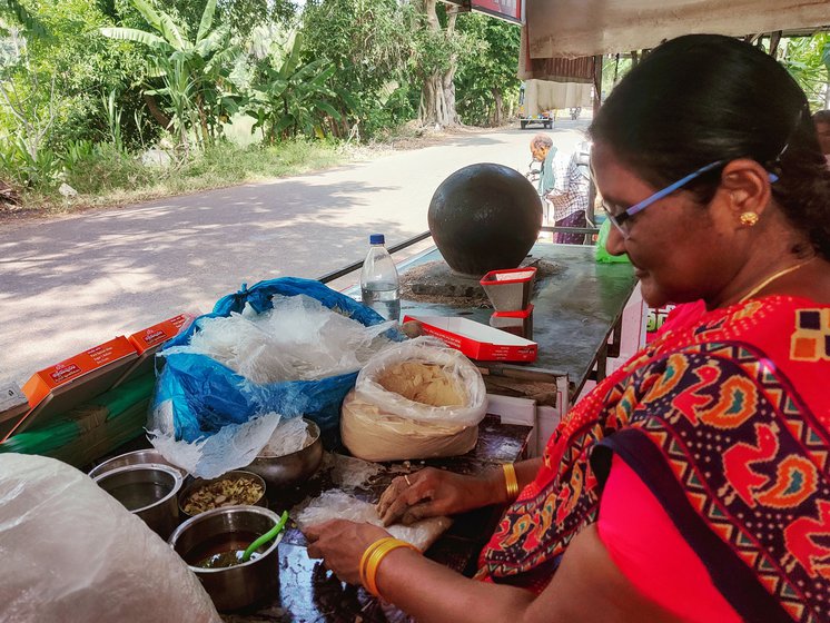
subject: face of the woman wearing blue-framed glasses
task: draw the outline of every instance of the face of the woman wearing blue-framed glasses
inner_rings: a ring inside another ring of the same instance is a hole
[[[594,145],[591,162],[597,190],[615,215],[660,190],[622,165],[606,145]],[[719,194],[701,206],[681,189],[634,215],[628,238],[611,228],[606,248],[612,255],[629,254],[650,306],[715,300],[737,274],[740,249],[730,248],[733,228],[718,207]]]

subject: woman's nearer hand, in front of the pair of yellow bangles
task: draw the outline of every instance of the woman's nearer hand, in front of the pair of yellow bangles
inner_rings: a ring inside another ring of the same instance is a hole
[[[310,526],[305,535],[309,557],[323,558],[326,567],[342,581],[359,585],[363,553],[378,538],[389,536],[389,533],[372,524],[333,520]]]

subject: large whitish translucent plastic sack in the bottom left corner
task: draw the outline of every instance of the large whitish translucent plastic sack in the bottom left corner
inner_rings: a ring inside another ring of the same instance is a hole
[[[73,467],[0,454],[0,621],[220,623],[184,561]]]

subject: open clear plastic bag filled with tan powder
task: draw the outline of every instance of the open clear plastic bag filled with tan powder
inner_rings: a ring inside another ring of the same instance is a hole
[[[418,338],[372,357],[340,413],[349,452],[366,461],[465,454],[487,408],[478,369],[458,350]]]

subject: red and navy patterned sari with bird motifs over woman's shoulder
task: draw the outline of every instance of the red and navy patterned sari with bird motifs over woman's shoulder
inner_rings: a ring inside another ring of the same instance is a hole
[[[830,621],[830,306],[750,300],[638,353],[559,426],[478,577],[542,591],[614,455],[741,617]]]

